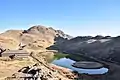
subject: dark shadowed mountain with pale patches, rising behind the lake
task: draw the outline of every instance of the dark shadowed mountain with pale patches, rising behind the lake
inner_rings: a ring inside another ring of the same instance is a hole
[[[84,54],[97,59],[120,63],[120,37],[79,36],[55,44],[49,49],[56,49],[69,54]]]

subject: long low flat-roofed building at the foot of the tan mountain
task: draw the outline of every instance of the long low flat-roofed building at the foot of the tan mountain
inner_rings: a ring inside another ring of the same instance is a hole
[[[1,53],[1,57],[28,58],[29,53],[25,50],[7,50]]]

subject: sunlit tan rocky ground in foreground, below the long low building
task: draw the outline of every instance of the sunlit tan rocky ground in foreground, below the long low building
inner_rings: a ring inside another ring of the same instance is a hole
[[[30,74],[22,72],[20,70],[27,66],[32,69],[32,66],[35,63],[39,64],[38,69],[41,70],[39,76],[42,76],[42,78],[44,78],[40,80],[72,80],[70,77],[66,77],[66,74],[60,72],[60,69],[63,69],[64,72],[66,71],[68,73],[67,75],[72,76],[73,74],[70,72],[70,70],[52,64],[46,64],[46,62],[44,62],[42,58],[39,63],[36,60],[33,60],[32,57],[21,61],[0,60],[0,80],[23,80],[24,77],[29,77]],[[43,64],[49,67],[46,67]]]

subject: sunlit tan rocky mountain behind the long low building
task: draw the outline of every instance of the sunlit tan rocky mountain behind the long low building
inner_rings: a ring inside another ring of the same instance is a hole
[[[55,38],[70,39],[71,36],[61,30],[41,25],[32,26],[28,30],[8,30],[0,34],[0,47],[4,49],[40,50],[49,47]]]

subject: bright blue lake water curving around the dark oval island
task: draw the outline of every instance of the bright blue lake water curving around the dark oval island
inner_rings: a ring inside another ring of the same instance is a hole
[[[69,58],[60,58],[58,60],[54,60],[52,63],[58,66],[66,67],[71,69],[72,71],[78,71],[78,73],[86,73],[86,74],[105,74],[108,72],[107,68],[100,68],[100,69],[81,69],[75,68],[72,66],[73,63],[76,61],[71,60]]]

